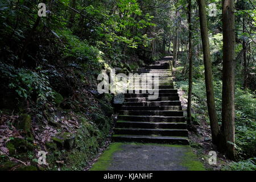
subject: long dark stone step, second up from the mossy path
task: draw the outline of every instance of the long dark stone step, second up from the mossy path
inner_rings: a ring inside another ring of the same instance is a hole
[[[188,130],[180,129],[134,129],[134,128],[115,128],[117,135],[160,135],[170,137],[188,137]]]

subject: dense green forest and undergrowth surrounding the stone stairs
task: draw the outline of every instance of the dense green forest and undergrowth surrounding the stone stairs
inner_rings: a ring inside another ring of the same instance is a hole
[[[46,3],[46,16],[38,16],[39,3]],[[205,3],[221,126],[222,1]],[[255,7],[254,1],[235,2],[237,161],[226,169],[256,169]],[[110,68],[129,73],[165,55],[174,56],[175,84],[184,97],[193,63],[191,122],[210,124],[197,1],[3,0],[0,30],[3,169],[42,169],[37,164],[42,150],[49,152],[50,169],[83,169],[109,141],[115,120],[113,94],[96,91],[98,74]],[[63,140],[56,138],[59,135]]]

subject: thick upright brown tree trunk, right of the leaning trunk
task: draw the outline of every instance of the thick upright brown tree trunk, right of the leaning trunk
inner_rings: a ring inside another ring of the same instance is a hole
[[[235,157],[234,130],[234,68],[235,32],[234,1],[222,0],[223,75],[222,75],[222,133],[225,137],[226,154]]]

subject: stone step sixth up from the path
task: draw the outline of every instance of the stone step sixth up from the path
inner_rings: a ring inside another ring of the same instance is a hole
[[[181,106],[122,106],[121,110],[182,110]]]

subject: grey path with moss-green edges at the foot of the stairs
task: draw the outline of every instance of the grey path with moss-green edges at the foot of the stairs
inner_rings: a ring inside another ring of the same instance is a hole
[[[189,146],[112,143],[92,171],[198,171],[204,170]]]

